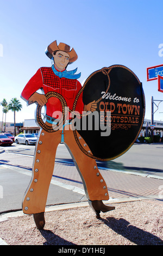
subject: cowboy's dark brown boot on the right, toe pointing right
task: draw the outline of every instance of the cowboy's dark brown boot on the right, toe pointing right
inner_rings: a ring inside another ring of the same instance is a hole
[[[115,209],[115,206],[112,205],[105,205],[103,204],[102,200],[89,200],[89,205],[91,206],[92,210],[96,212],[96,218],[100,217],[100,212],[107,212]]]

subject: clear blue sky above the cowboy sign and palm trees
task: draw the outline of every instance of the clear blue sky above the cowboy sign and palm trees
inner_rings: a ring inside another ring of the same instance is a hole
[[[162,38],[162,0],[0,0],[0,86],[9,102],[17,97],[23,105],[16,122],[34,118],[21,92],[41,66],[51,66],[45,54],[54,40],[74,47],[82,83],[93,71],[122,64],[143,84],[146,115],[151,119],[151,96],[163,100],[158,81],[147,82],[146,69],[163,64],[159,56]],[[163,120],[163,102],[154,119]],[[0,107],[2,120],[2,107]],[[9,111],[7,121],[14,121]]]

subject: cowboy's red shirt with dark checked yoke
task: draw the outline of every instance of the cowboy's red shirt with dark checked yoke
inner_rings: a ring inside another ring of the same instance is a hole
[[[74,100],[81,88],[82,86],[78,80],[65,77],[59,78],[54,74],[52,68],[44,67],[37,70],[36,74],[30,78],[23,89],[21,97],[28,101],[29,97],[39,89],[43,89],[45,94],[48,92],[57,92],[64,97],[67,107],[72,109]],[[61,117],[61,115],[58,117],[59,112],[62,112],[62,107],[60,100],[57,97],[50,97],[46,103],[46,107],[47,115],[53,118]],[[80,94],[76,104],[76,111],[82,114],[83,108],[82,94]],[[67,115],[67,119],[70,119],[69,115]]]

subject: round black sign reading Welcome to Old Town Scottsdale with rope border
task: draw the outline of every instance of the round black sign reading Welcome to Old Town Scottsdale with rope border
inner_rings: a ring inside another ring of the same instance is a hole
[[[88,156],[108,161],[126,153],[134,144],[145,117],[145,95],[142,83],[133,71],[123,65],[93,72],[83,86],[85,105],[97,103],[95,112],[83,116],[74,136]],[[77,131],[91,153],[80,144]]]

